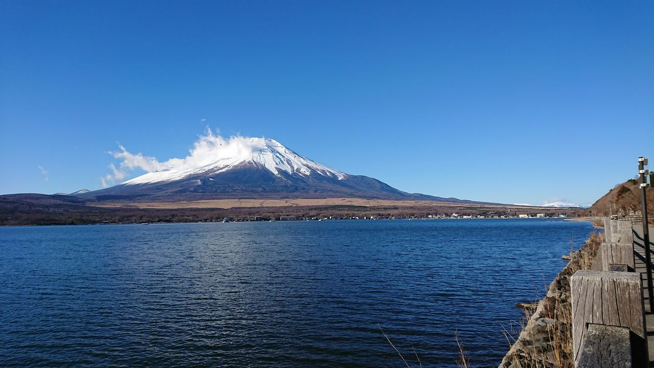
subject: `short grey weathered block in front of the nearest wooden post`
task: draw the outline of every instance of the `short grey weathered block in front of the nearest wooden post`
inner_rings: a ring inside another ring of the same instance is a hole
[[[629,329],[589,323],[577,368],[631,368]]]

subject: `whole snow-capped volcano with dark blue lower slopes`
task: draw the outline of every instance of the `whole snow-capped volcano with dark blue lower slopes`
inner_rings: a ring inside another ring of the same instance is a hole
[[[374,198],[471,202],[405,193],[364,175],[345,174],[291,151],[274,139],[245,138],[218,145],[194,160],[135,177],[107,189],[74,195],[90,200],[201,200],[218,198]]]

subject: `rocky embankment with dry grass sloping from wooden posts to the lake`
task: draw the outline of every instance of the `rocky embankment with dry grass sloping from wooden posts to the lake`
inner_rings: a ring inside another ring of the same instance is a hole
[[[534,313],[525,318],[523,331],[502,359],[500,368],[574,367],[570,277],[577,270],[592,267],[601,242],[601,234],[591,236],[572,255],[568,265],[549,284]]]

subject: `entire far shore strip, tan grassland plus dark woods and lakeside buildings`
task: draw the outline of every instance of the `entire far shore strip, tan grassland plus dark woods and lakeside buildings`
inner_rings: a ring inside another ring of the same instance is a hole
[[[426,200],[298,198],[277,200],[198,200],[190,202],[63,202],[31,195],[0,201],[0,225],[82,225],[96,223],[192,223],[271,219],[422,219],[434,217],[567,218],[577,208],[543,208]]]

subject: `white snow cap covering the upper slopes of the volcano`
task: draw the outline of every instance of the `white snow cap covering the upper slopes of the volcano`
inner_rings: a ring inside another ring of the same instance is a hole
[[[199,162],[180,165],[169,170],[150,172],[122,184],[149,184],[177,181],[199,174],[214,175],[227,172],[243,164],[258,164],[277,177],[283,177],[282,172],[303,176],[318,174],[338,180],[345,179],[347,175],[298,155],[274,139],[245,138],[244,143],[235,147],[233,145],[223,146],[222,144],[215,146],[211,153],[203,156],[203,159]]]

